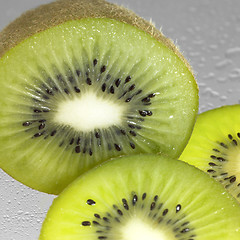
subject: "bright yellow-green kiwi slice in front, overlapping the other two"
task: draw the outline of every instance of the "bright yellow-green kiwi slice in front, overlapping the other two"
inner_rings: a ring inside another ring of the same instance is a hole
[[[80,176],[54,200],[40,240],[239,240],[239,229],[239,204],[219,183],[142,154]]]

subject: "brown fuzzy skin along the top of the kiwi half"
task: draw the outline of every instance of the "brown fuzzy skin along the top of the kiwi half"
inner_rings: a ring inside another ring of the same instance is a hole
[[[131,10],[105,0],[57,0],[29,10],[10,23],[0,33],[0,58],[11,48],[32,35],[71,20],[82,18],[110,18],[133,25],[150,34],[170,48],[188,67],[186,61],[174,43],[166,38],[153,24],[137,16]]]

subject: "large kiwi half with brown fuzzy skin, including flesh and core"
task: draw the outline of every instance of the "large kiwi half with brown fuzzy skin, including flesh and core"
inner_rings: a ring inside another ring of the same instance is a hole
[[[98,0],[41,6],[0,35],[0,167],[58,194],[119,155],[177,157],[198,89],[173,43],[131,11]]]

